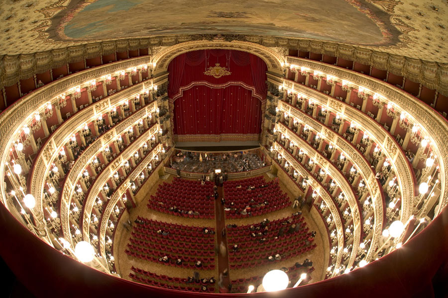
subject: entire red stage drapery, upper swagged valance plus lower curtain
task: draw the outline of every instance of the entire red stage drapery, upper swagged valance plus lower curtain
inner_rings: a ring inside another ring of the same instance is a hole
[[[230,74],[205,74],[216,66]],[[175,135],[260,133],[267,90],[261,58],[233,50],[192,51],[174,58],[168,71]]]

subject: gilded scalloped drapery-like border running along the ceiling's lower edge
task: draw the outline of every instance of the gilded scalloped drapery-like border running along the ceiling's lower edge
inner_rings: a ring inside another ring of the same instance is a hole
[[[448,96],[448,64],[446,63],[414,59],[389,54],[381,50],[373,50],[367,47],[358,47],[335,42],[236,34],[185,34],[121,39],[53,49],[46,52],[26,54],[24,56],[4,55],[3,57],[0,57],[0,60],[3,62],[0,62],[0,88],[10,86],[16,83],[19,79],[27,78],[32,76],[32,74],[43,73],[50,69],[67,65],[68,63],[93,58],[99,55],[110,55],[115,52],[125,52],[143,48],[154,49],[159,47],[172,47],[194,41],[198,41],[199,43],[206,41],[211,42],[211,44],[215,43],[213,47],[208,48],[219,48],[217,45],[218,41],[233,43],[234,46],[229,49],[241,51],[244,51],[244,48],[247,48],[248,45],[252,45],[252,53],[258,56],[260,56],[259,54],[261,53],[254,52],[256,48],[267,48],[269,51],[277,53],[282,52],[280,50],[283,50],[284,52],[284,50],[292,49],[300,50],[302,52],[311,51],[318,54],[325,54],[364,65],[371,65],[374,68],[388,71],[392,74],[403,75],[417,83],[422,83],[429,89],[436,89],[439,93]],[[235,47],[238,43],[245,44],[245,46],[242,48]],[[188,51],[193,50],[195,49],[190,48]],[[154,53],[155,52],[157,51],[154,51]],[[182,52],[179,52],[178,55],[181,53]],[[272,54],[273,57],[277,57],[281,62],[284,62],[284,58],[279,58],[279,56],[283,56],[283,53]],[[155,57],[158,57],[158,54],[156,54]],[[264,60],[267,61],[266,58]],[[273,61],[275,60],[276,59],[273,59]]]

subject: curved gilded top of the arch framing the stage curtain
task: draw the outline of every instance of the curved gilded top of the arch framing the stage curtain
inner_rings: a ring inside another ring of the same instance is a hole
[[[154,75],[168,71],[168,65],[175,57],[197,50],[224,49],[248,52],[260,57],[266,63],[268,73],[283,75],[284,58],[275,51],[262,45],[247,41],[198,40],[187,41],[168,47],[152,57]]]

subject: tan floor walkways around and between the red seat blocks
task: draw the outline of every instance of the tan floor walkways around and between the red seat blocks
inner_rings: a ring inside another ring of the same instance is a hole
[[[263,175],[264,179],[266,181],[272,180],[269,178],[266,174]],[[154,195],[157,186],[163,182],[171,182],[173,179],[173,176],[169,177],[168,180],[162,180],[159,179],[157,183],[154,185],[154,187],[151,189],[151,191],[147,194],[147,197],[149,198],[150,195]],[[288,191],[286,185],[284,185],[281,181],[279,181],[280,188],[282,191],[286,192],[288,196],[290,197],[291,201],[294,200],[294,197],[291,195],[291,193]],[[225,194],[224,194],[225,196]],[[139,206],[136,208],[133,208],[129,210],[129,221],[133,224],[134,220],[137,218],[137,216],[141,216],[143,218],[163,221],[163,222],[169,222],[173,224],[186,224],[186,225],[193,225],[193,226],[212,226],[216,227],[217,221],[215,219],[213,220],[200,220],[200,219],[186,219],[183,217],[177,217],[177,216],[171,216],[164,213],[159,213],[156,211],[152,211],[146,207],[147,200],[143,200]],[[281,219],[290,216],[292,213],[298,211],[299,209],[292,209],[291,207],[285,208],[283,210],[279,210],[267,215],[261,215],[256,217],[249,217],[246,219],[239,219],[239,220],[225,220],[225,224],[232,224],[235,223],[237,225],[245,225],[245,224],[254,224],[261,222],[264,218],[269,219],[270,221]],[[309,216],[308,210],[304,208],[302,210],[302,215],[305,218],[306,223],[308,224],[308,227],[310,228],[310,231],[316,231],[316,237],[315,237],[315,243],[317,244],[317,247],[313,249],[312,251],[303,254],[297,258],[291,258],[282,260],[279,262],[274,262],[272,264],[266,264],[263,266],[257,266],[255,268],[245,268],[245,269],[230,269],[229,270],[229,278],[237,279],[237,278],[243,278],[243,277],[252,277],[252,276],[263,276],[265,273],[272,269],[279,269],[281,267],[290,267],[294,265],[296,262],[302,263],[306,258],[313,261],[313,266],[315,268],[315,271],[311,274],[312,280],[311,282],[317,282],[320,281],[324,270],[326,270],[328,264],[323,264],[324,262],[324,245],[323,245],[323,239],[322,235],[319,232],[319,229],[317,228],[316,223],[314,220]],[[217,215],[218,216],[218,215]],[[217,233],[220,233],[220,230],[216,230]],[[132,258],[125,254],[126,245],[129,242],[130,237],[130,231],[128,231],[126,228],[124,228],[122,223],[119,223],[117,225],[116,231],[115,231],[115,239],[114,239],[114,256],[115,256],[115,268],[117,270],[117,273],[124,279],[130,280],[129,273],[131,266],[138,267],[140,269],[150,271],[153,273],[157,273],[159,275],[164,274],[167,276],[172,277],[180,277],[180,278],[186,278],[187,276],[193,275],[193,270],[186,269],[186,268],[177,268],[172,266],[166,266],[162,264],[157,264],[153,262],[148,262],[145,260]],[[217,245],[217,237],[215,237],[215,244]],[[224,268],[221,268],[221,271]],[[215,270],[198,270],[201,277],[207,277],[210,278],[214,276],[217,280],[219,278],[219,266],[218,266],[218,257],[216,257],[216,269]],[[292,281],[295,282],[295,281]],[[216,284],[215,287],[218,291],[218,284]]]

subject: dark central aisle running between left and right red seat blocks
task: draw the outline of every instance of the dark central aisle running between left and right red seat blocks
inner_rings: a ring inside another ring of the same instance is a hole
[[[223,288],[227,289],[230,284],[230,278],[228,276],[229,266],[228,266],[228,255],[227,255],[227,237],[222,234],[222,231],[225,230],[225,221],[224,221],[224,206],[221,204],[221,199],[223,198],[223,187],[218,187],[218,199],[215,200],[215,218],[216,218],[216,235],[218,240],[218,247],[220,248],[222,245],[221,242],[224,242],[225,247],[225,254],[223,255],[221,253],[221,249],[218,250],[218,272],[219,275],[224,272],[225,269],[227,269],[227,275],[223,276]],[[218,277],[218,281],[219,281]],[[218,291],[220,290],[220,287],[218,286]]]

